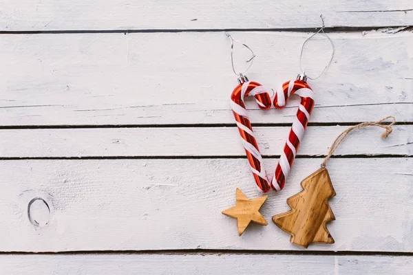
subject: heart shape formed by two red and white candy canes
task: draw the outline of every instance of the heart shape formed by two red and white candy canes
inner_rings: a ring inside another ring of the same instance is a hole
[[[298,106],[297,114],[295,115],[286,144],[284,145],[284,150],[279,158],[277,168],[275,168],[275,173],[271,181],[268,180],[262,155],[258,148],[257,140],[255,140],[253,128],[248,119],[248,113],[245,109],[244,102],[246,96],[255,96],[258,107],[262,110],[267,110],[271,107],[271,97],[260,83],[252,81],[241,81],[240,85],[235,87],[231,94],[231,109],[233,110],[238,131],[242,137],[242,146],[245,148],[246,157],[248,158],[251,171],[253,172],[255,183],[258,188],[264,192],[268,192],[271,188],[275,191],[280,191],[284,188],[286,177],[290,172],[290,167],[293,165],[299,143],[304,136],[304,131],[308,124],[311,111],[313,111],[314,93],[306,83],[306,78],[302,76],[299,76],[297,80],[290,80],[282,85],[282,91],[277,91],[275,94],[275,108],[284,108],[286,102],[288,102],[288,98],[292,94],[299,95],[301,97],[301,102]]]

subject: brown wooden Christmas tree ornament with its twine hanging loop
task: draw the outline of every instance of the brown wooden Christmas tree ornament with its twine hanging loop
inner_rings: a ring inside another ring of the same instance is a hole
[[[392,118],[393,122],[388,125],[381,124],[383,120],[388,118]],[[335,220],[328,204],[328,198],[336,195],[326,168],[327,160],[350,131],[366,126],[379,126],[385,129],[385,133],[381,135],[385,138],[392,133],[392,125],[395,122],[396,120],[392,116],[383,118],[378,122],[363,122],[351,126],[336,138],[327,157],[321,164],[321,169],[301,181],[303,191],[287,199],[291,210],[273,217],[274,223],[279,228],[291,234],[291,243],[304,248],[307,248],[310,243],[334,243],[334,239],[332,239],[326,227],[327,221]]]

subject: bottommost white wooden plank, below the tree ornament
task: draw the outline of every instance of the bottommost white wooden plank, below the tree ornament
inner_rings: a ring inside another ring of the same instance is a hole
[[[275,254],[1,255],[5,274],[377,274],[405,275],[408,256]]]

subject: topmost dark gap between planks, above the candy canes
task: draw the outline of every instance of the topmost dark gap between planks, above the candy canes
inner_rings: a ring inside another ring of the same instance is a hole
[[[383,27],[328,27],[325,32],[363,32],[381,28],[409,28],[411,25]],[[124,29],[124,30],[1,30],[0,34],[107,34],[107,33],[157,33],[157,32],[314,32],[317,28],[224,28],[224,29]]]

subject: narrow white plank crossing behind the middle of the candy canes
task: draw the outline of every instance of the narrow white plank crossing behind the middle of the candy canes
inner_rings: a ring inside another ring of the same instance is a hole
[[[309,126],[298,155],[326,155],[348,126]],[[290,127],[255,127],[262,155],[280,155]],[[352,133],[335,155],[413,155],[413,126]],[[235,127],[3,129],[0,157],[244,156]]]

